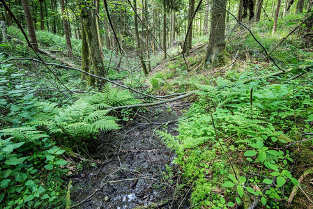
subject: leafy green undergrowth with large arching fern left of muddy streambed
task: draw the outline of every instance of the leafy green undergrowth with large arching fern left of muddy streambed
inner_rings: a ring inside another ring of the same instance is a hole
[[[81,95],[38,91],[47,86],[32,73],[0,65],[0,208],[63,207],[66,176],[76,165],[69,156],[120,128],[121,113],[112,107],[139,102],[109,84]]]

